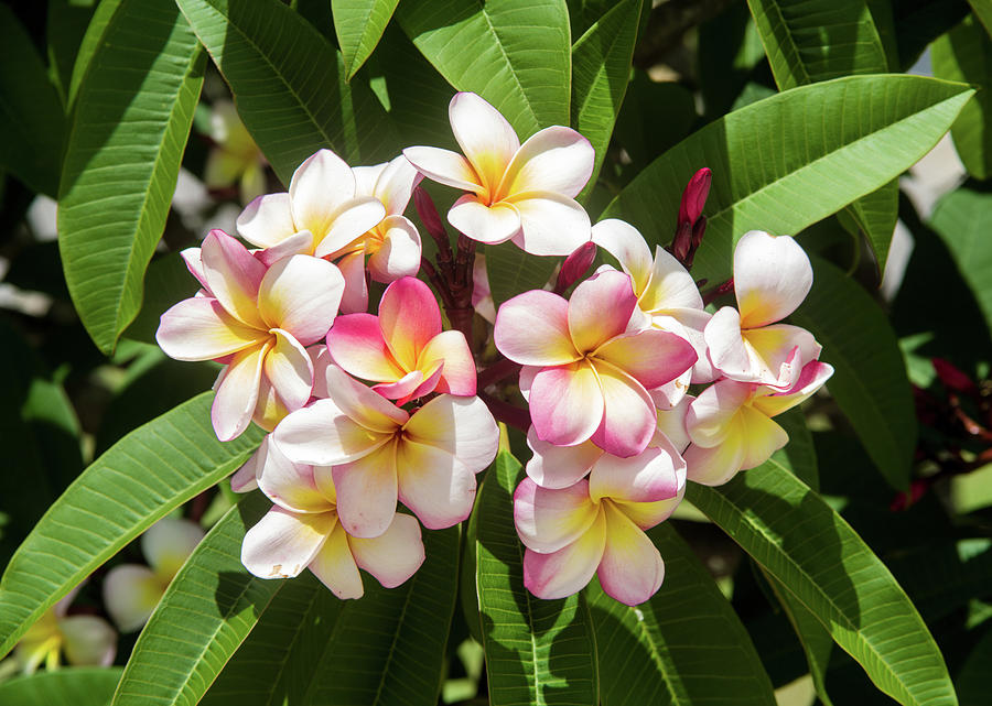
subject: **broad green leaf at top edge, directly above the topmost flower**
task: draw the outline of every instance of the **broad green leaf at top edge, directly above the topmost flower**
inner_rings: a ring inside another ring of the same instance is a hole
[[[564,0],[405,2],[396,17],[448,83],[493,104],[521,140],[569,124],[572,42]]]

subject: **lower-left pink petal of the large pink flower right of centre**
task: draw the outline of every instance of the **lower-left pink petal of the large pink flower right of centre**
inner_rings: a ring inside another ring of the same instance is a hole
[[[603,422],[603,391],[592,366],[541,368],[530,387],[530,417],[538,438],[556,446],[589,439]]]

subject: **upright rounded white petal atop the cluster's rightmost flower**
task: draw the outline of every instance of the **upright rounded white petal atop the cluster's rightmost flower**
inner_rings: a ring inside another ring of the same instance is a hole
[[[812,286],[809,258],[788,236],[745,232],[734,249],[734,292],[741,326],[754,328],[796,311]]]

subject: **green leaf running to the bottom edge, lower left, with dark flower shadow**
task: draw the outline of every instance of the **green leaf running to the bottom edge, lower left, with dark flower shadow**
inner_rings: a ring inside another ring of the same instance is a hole
[[[241,540],[272,503],[241,500],[203,539],[141,631],[112,706],[195,706],[285,582],[249,574]]]

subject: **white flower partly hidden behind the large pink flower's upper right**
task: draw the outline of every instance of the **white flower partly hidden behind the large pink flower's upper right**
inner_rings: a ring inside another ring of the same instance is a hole
[[[696,281],[667,250],[655,248],[655,257],[640,232],[628,222],[607,218],[592,229],[592,241],[617,259],[624,272],[630,275],[637,308],[651,326],[661,330],[675,330],[686,336],[698,356],[691,371],[691,382],[712,382],[714,374],[707,358],[703,329],[710,314],[703,309],[702,296]],[[672,319],[679,324],[672,326]],[[686,381],[681,388],[684,390]],[[675,400],[678,402],[678,400]]]

